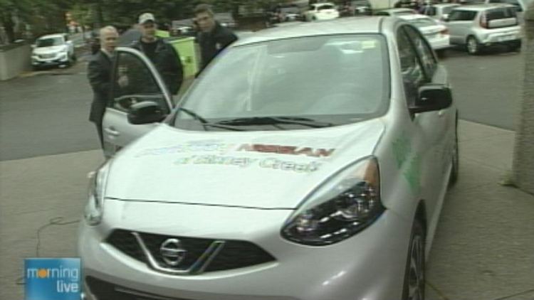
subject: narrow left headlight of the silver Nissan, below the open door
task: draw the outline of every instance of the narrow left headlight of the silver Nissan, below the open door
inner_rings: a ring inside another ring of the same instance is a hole
[[[88,203],[85,205],[83,217],[88,225],[100,224],[104,214],[105,186],[108,182],[109,162],[90,175],[88,187]]]

